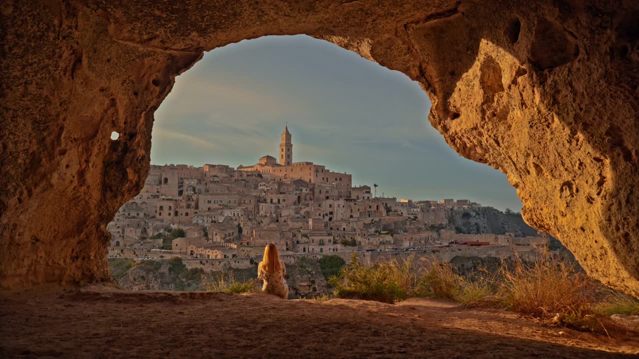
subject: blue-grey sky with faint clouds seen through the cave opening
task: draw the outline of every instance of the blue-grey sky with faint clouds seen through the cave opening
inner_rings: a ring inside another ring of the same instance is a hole
[[[521,210],[505,174],[459,156],[428,122],[428,96],[323,40],[266,36],[214,49],[155,112],[151,164],[254,165],[277,158],[288,122],[293,162],[377,183],[379,196],[470,199]]]

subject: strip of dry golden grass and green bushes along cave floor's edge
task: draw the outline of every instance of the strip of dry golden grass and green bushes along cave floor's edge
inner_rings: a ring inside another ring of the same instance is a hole
[[[394,303],[409,296],[449,298],[465,305],[504,307],[575,330],[605,333],[599,318],[639,315],[639,301],[605,287],[576,264],[542,253],[533,263],[515,256],[497,271],[482,269],[469,278],[436,257],[382,261],[365,266],[353,256],[331,277],[335,295]],[[605,294],[605,295],[604,295]]]

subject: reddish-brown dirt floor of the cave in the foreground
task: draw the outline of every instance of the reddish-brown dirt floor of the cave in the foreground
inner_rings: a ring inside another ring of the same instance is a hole
[[[281,300],[268,294],[0,293],[2,358],[638,358],[639,334],[580,333],[505,310],[412,298]]]

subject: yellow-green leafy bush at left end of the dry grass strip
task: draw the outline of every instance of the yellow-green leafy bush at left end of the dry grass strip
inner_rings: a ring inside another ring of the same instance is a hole
[[[353,254],[351,263],[328,279],[328,284],[334,287],[335,296],[342,298],[358,298],[377,300],[378,302],[395,303],[406,298],[404,292],[394,276],[394,270],[389,263],[376,263],[365,266]]]

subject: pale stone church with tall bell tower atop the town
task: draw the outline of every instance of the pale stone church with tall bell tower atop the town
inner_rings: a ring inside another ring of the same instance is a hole
[[[293,142],[288,125],[284,126],[279,146],[279,163],[277,158],[266,155],[259,158],[258,163],[252,166],[240,165],[238,171],[250,171],[261,173],[268,179],[286,181],[289,179],[302,179],[308,183],[321,183],[326,185],[351,187],[353,176],[346,172],[329,171],[324,165],[316,165],[313,162],[293,162]]]

